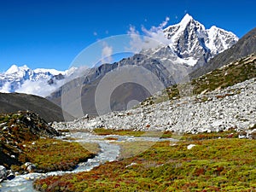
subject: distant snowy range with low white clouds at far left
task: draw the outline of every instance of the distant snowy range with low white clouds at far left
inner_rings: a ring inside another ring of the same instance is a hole
[[[0,73],[0,92],[23,92],[47,96],[62,85],[62,79],[71,76],[74,71],[75,68],[62,72],[44,68],[32,70],[26,65],[22,67],[13,65],[5,73]]]

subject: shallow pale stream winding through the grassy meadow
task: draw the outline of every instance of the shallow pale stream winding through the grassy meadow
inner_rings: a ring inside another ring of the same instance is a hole
[[[98,143],[101,152],[97,154],[94,158],[82,162],[79,166],[72,172],[89,172],[92,168],[99,166],[106,161],[117,160],[119,156],[119,145],[111,143],[106,140],[106,136],[96,136],[87,132],[77,132],[73,133],[72,137],[77,138],[79,143]],[[108,136],[109,137],[109,136]],[[159,139],[153,137],[126,137],[126,136],[111,136],[116,137],[118,142],[124,141],[153,141],[156,142]],[[72,172],[48,172],[48,173],[28,173],[25,175],[16,176],[12,180],[6,180],[0,183],[0,192],[36,192],[32,187],[32,183],[38,177],[48,177],[52,175],[62,175],[65,173]]]

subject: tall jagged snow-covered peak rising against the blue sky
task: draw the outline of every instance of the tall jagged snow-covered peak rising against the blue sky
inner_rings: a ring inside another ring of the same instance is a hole
[[[186,14],[178,24],[168,26],[163,31],[170,39],[169,47],[182,61],[195,66],[197,61],[208,61],[212,56],[236,44],[238,38],[217,26],[206,29],[199,21]],[[205,58],[201,59],[201,56]]]

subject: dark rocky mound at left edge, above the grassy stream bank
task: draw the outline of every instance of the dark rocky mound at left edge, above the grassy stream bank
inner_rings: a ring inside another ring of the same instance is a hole
[[[34,141],[39,137],[57,137],[55,131],[37,113],[17,112],[0,114],[0,165],[10,168],[21,166],[19,154],[25,141]]]

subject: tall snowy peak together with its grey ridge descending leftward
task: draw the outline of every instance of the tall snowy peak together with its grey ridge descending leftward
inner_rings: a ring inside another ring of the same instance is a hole
[[[125,110],[131,108],[131,103],[143,102],[152,92],[183,81],[193,67],[205,65],[212,56],[230,48],[238,40],[232,32],[216,26],[206,29],[190,15],[185,15],[180,23],[166,27],[163,32],[169,44],[143,50],[113,64],[91,68],[84,76],[67,82],[47,98],[67,108],[75,117],[83,116],[84,113],[108,113],[109,109]],[[150,79],[153,76],[156,77],[154,81]],[[99,87],[106,79],[108,82],[105,88],[97,94],[96,91],[101,90]],[[126,82],[118,85],[117,82],[124,79],[127,79]],[[115,85],[117,87],[109,93]],[[105,102],[101,102],[100,112],[96,106],[98,95]],[[109,106],[107,102],[110,102]]]

